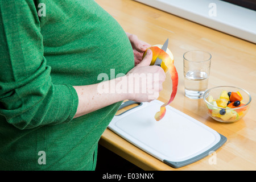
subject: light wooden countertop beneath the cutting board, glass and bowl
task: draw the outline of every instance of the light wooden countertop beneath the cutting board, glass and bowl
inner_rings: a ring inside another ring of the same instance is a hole
[[[131,0],[96,0],[126,32],[151,45],[169,47],[179,73],[179,86],[171,106],[197,119],[228,138],[216,151],[216,164],[207,156],[181,168],[172,168],[148,155],[107,129],[100,144],[144,170],[255,170],[256,169],[256,45],[175,15]],[[221,123],[207,115],[203,100],[184,97],[183,53],[203,49],[212,54],[209,88],[238,86],[252,97],[250,110],[240,121]],[[159,100],[166,102],[170,92],[163,90]]]

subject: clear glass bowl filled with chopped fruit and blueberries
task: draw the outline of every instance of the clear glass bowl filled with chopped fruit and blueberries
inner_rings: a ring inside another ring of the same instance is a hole
[[[234,93],[229,96],[229,92]],[[208,115],[216,121],[225,123],[236,122],[245,116],[251,102],[250,94],[236,86],[217,86],[208,89],[205,91],[203,99],[208,109]]]

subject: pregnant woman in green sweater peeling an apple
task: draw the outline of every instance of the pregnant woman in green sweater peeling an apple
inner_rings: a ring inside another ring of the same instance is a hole
[[[0,0],[0,169],[94,170],[122,101],[151,101],[162,90],[152,52],[142,60],[147,47],[93,0]],[[157,73],[159,87],[99,93],[98,75],[110,70],[123,80]]]

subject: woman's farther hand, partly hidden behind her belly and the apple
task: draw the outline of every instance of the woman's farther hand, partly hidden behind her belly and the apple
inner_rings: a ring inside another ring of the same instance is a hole
[[[150,44],[139,40],[137,35],[133,35],[127,32],[126,35],[128,36],[131,42],[131,46],[133,47],[134,63],[135,65],[137,65],[141,63],[143,53],[146,51],[148,47],[150,47]]]

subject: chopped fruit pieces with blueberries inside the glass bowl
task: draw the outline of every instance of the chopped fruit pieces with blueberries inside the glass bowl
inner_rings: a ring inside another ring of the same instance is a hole
[[[243,102],[243,97],[240,92],[228,92],[227,90],[222,90],[218,98],[213,98],[213,96],[208,96],[206,99],[209,104],[208,113],[214,118],[217,117],[218,120],[225,122],[234,122],[242,118],[245,115],[247,106]]]

